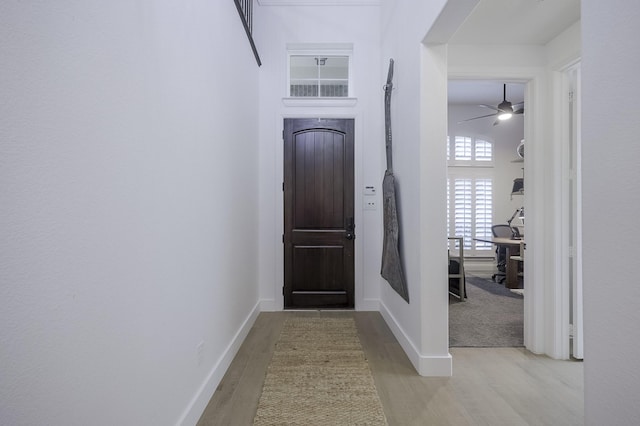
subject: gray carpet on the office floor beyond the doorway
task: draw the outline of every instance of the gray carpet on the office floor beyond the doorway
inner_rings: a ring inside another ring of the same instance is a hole
[[[467,299],[449,295],[451,347],[524,346],[524,298],[504,284],[467,276]]]

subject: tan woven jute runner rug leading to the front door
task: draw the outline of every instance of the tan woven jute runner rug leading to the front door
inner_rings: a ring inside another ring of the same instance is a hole
[[[288,318],[254,425],[386,424],[353,318]]]

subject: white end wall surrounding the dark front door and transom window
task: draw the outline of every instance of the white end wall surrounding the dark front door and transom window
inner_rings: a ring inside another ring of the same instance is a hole
[[[373,185],[381,205],[384,175],[382,107],[386,72],[380,69],[378,6],[268,6],[258,8],[254,31],[264,65],[260,73],[260,297],[262,309],[283,307],[283,148],[285,117],[355,119],[355,305],[379,308],[382,212],[363,210],[363,188]],[[285,105],[288,44],[353,45],[355,104]]]

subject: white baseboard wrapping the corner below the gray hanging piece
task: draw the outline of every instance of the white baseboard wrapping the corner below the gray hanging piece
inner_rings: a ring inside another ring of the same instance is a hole
[[[380,314],[419,375],[449,377],[453,374],[453,358],[451,354],[447,353],[447,355],[443,356],[422,355],[382,301],[380,301]]]

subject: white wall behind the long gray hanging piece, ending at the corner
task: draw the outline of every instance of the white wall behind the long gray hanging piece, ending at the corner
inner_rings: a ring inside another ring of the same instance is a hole
[[[381,292],[381,312],[417,371],[451,374],[448,353],[445,188],[446,124],[441,132],[421,126],[429,112],[423,96],[439,102],[444,115],[446,83],[439,92],[424,93],[423,78],[442,73],[430,66],[422,40],[444,1],[382,1],[382,54],[396,63],[392,98],[394,173],[400,219],[400,251],[411,303],[389,286]],[[426,62],[426,63],[425,63]],[[437,62],[437,61],[435,61]],[[428,63],[428,64],[427,64]],[[446,70],[445,70],[446,74]],[[446,75],[444,76],[446,82]],[[442,135],[440,134],[442,133]],[[428,205],[424,200],[429,199]]]

